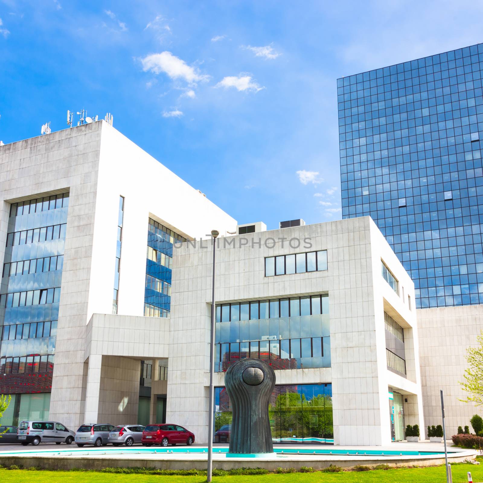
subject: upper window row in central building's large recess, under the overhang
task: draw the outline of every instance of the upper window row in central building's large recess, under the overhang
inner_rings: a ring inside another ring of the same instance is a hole
[[[217,305],[216,322],[297,317],[321,313],[329,313],[328,295],[272,298],[270,300]]]

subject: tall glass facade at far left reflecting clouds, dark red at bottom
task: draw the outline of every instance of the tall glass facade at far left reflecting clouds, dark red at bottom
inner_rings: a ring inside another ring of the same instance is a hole
[[[2,394],[51,390],[68,207],[68,193],[11,205],[0,291]]]

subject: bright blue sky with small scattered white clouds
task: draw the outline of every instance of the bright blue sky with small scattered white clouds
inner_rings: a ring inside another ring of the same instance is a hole
[[[483,42],[482,11],[469,1],[0,0],[0,140],[39,135],[47,121],[64,129],[67,109],[110,112],[240,223],[339,219],[336,79]],[[146,180],[161,196],[162,183]]]

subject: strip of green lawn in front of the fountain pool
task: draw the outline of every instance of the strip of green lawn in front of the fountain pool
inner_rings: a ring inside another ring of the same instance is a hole
[[[482,467],[457,464],[452,467],[453,482],[466,483],[467,471],[471,471],[473,481],[483,482]],[[78,471],[28,471],[0,469],[2,483],[203,483],[204,476],[159,476],[140,474],[112,474]],[[351,483],[443,483],[446,481],[444,466],[433,468],[389,469],[373,471],[344,471],[341,473],[288,473],[258,476],[217,476],[213,483],[313,483],[313,482],[351,482]]]

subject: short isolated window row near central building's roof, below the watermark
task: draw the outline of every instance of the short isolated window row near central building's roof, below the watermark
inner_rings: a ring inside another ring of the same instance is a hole
[[[327,250],[265,258],[265,276],[327,270]]]

